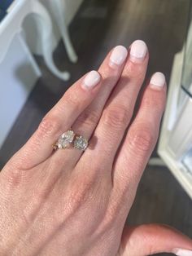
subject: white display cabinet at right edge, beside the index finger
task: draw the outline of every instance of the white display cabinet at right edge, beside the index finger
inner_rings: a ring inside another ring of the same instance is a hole
[[[174,58],[158,152],[192,198],[192,22]]]

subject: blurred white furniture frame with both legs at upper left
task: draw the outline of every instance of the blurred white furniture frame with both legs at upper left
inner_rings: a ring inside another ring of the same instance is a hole
[[[77,56],[72,47],[68,35],[68,28],[64,20],[64,1],[55,0],[50,1],[50,3],[53,9],[52,11],[55,13],[55,20],[57,21],[59,32],[61,33],[64,45],[66,46],[68,57],[75,63]],[[39,30],[37,40],[41,43],[42,55],[47,67],[56,77],[65,81],[68,80],[69,73],[67,71],[59,71],[53,60],[53,46],[51,45],[52,38],[54,37],[53,25],[46,7],[37,0],[15,0],[7,12],[6,18],[2,20],[2,23],[0,24],[0,63],[6,55],[15,34],[22,31],[25,17],[33,14],[37,16],[37,27]]]

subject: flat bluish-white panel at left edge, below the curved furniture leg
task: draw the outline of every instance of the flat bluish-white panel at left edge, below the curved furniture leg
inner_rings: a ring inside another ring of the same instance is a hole
[[[0,148],[40,75],[28,46],[16,35],[0,63]]]

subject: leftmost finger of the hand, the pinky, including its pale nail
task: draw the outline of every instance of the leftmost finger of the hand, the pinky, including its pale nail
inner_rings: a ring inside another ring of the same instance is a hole
[[[21,168],[31,168],[50,157],[53,144],[59,135],[69,130],[76,118],[93,101],[102,81],[101,75],[92,71],[67,90],[58,104],[41,121],[28,143],[16,154],[15,159],[19,160]]]

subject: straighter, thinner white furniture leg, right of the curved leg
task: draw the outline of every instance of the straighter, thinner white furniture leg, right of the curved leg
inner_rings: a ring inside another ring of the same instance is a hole
[[[76,55],[76,51],[72,46],[72,42],[68,33],[68,26],[65,21],[65,14],[64,14],[65,3],[63,0],[50,1],[50,7],[53,10],[53,14],[55,15],[55,20],[57,22],[59,32],[62,35],[63,43],[68,53],[68,58],[73,63],[76,63],[76,61],[78,60],[78,57]]]

